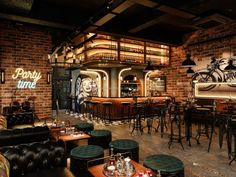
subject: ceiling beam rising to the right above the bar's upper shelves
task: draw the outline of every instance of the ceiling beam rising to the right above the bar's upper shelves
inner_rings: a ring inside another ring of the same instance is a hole
[[[145,23],[143,23],[143,24],[141,24],[141,25],[139,25],[137,27],[134,27],[134,28],[130,29],[129,32],[130,33],[137,33],[139,31],[142,31],[142,30],[144,30],[144,29],[146,29],[146,28],[148,28],[150,26],[153,26],[153,25],[155,25],[155,24],[157,24],[157,23],[159,23],[159,22],[161,22],[163,20],[167,20],[167,19],[169,19],[169,17],[170,17],[169,14],[165,14],[165,15],[159,16],[159,17],[154,18],[152,20],[149,20],[149,21],[147,21],[147,22],[145,22]]]

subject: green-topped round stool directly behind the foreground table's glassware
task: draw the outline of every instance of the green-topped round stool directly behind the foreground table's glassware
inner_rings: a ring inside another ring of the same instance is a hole
[[[129,152],[131,159],[139,162],[139,144],[138,142],[130,139],[118,139],[111,141],[109,144],[110,147],[113,147],[113,152],[124,153]]]

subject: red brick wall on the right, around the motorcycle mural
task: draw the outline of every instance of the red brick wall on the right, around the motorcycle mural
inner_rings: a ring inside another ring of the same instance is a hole
[[[191,53],[191,58],[197,64],[192,68],[193,70],[204,68],[207,63],[210,63],[211,57],[221,58],[223,51],[230,47],[233,53],[231,56],[236,52],[236,37],[221,38],[208,42],[207,40],[227,36],[235,32],[236,23],[221,25],[208,30],[199,30],[187,36],[183,46],[172,47],[170,67],[162,69],[160,72],[160,74],[167,76],[167,93],[176,96],[177,100],[184,100],[191,91],[191,76],[187,76],[187,68],[181,67],[186,52]],[[200,41],[206,42],[190,45]]]

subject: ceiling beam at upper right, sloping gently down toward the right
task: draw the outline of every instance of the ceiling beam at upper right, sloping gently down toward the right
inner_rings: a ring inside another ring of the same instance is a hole
[[[171,15],[175,15],[175,16],[179,16],[182,18],[186,18],[186,19],[190,19],[190,18],[194,18],[196,17],[194,14],[185,12],[183,10],[179,10],[170,6],[166,6],[166,5],[161,5],[157,8],[158,10],[171,14]]]

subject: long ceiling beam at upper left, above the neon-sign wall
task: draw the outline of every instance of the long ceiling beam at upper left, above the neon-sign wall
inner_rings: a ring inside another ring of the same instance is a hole
[[[46,20],[39,20],[39,19],[23,17],[23,16],[18,16],[18,15],[5,14],[5,13],[0,13],[0,18],[5,19],[5,20],[16,21],[16,22],[29,23],[29,24],[40,25],[40,26],[47,26],[47,27],[51,27],[51,28],[66,29],[66,30],[73,30],[74,29],[74,26],[70,26],[70,25],[66,25],[66,24],[62,24],[62,23],[55,23],[55,22],[50,22],[50,21],[46,21]]]

